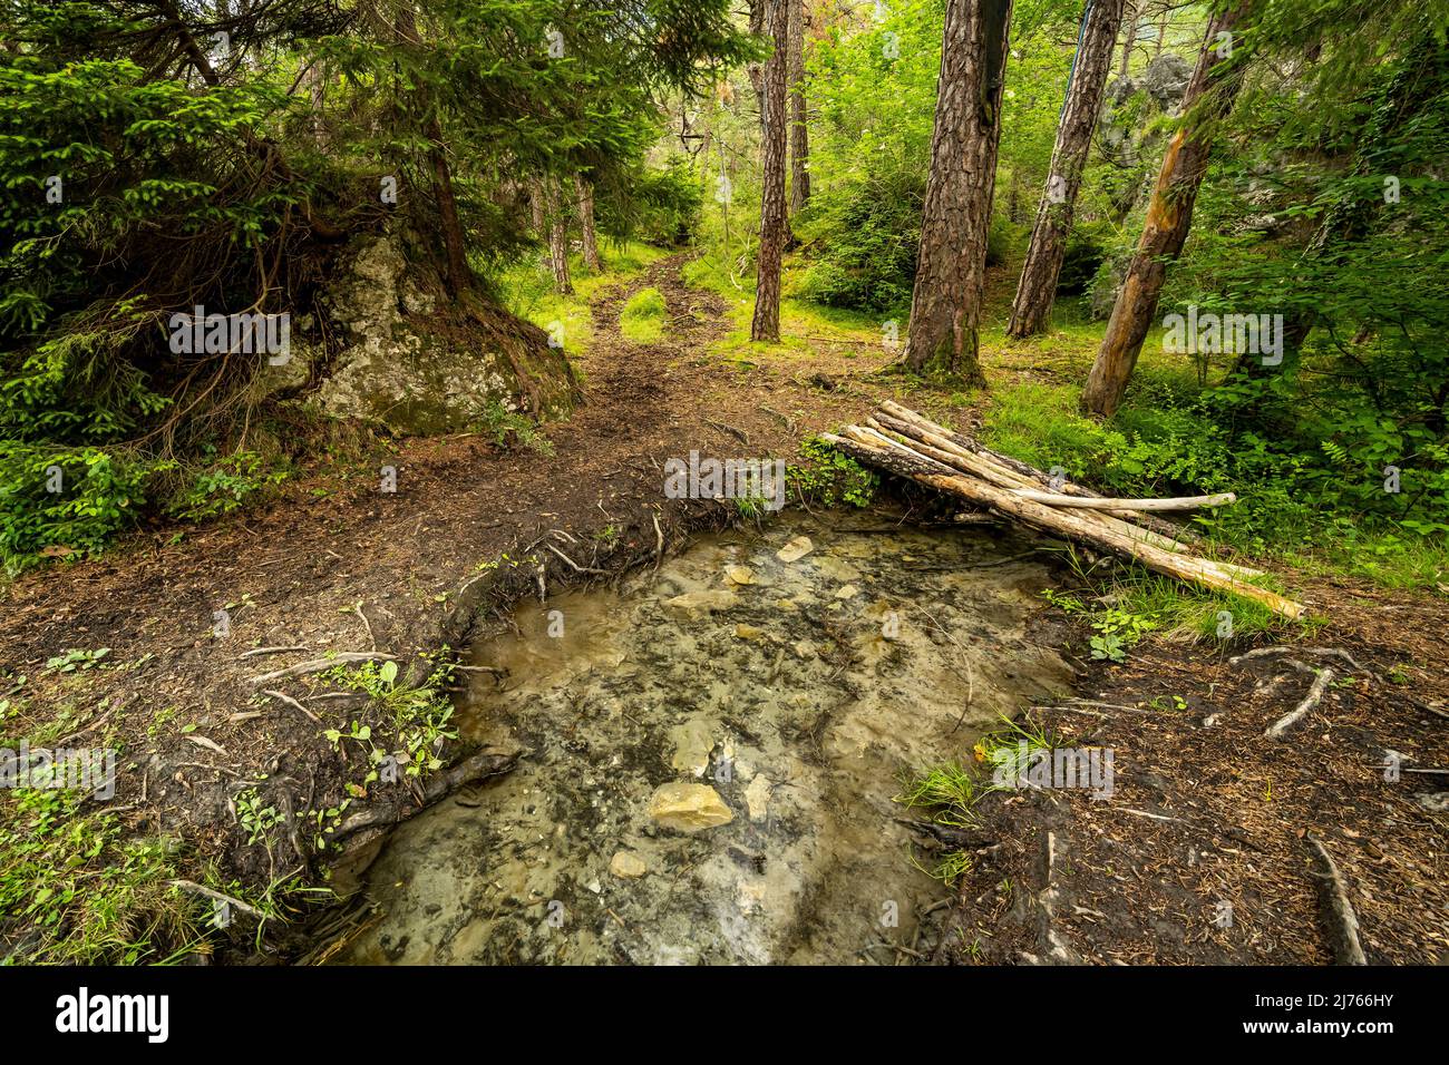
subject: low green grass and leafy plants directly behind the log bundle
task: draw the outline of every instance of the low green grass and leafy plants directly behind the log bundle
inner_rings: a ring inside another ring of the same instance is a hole
[[[990,397],[984,440],[1108,494],[1232,491],[1236,504],[1198,511],[1193,527],[1248,558],[1384,587],[1445,582],[1449,526],[1440,520],[1446,514],[1437,474],[1426,471],[1414,496],[1388,493],[1378,469],[1385,459],[1235,429],[1211,406],[1213,394],[1182,372],[1145,367],[1139,374],[1145,380],[1107,423],[1078,413],[1075,385],[1029,381],[998,388]]]

